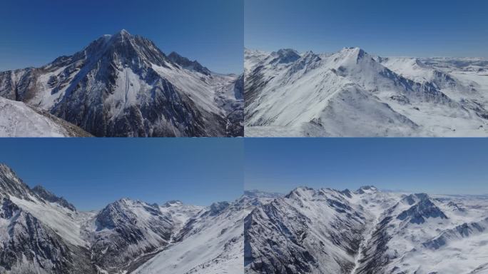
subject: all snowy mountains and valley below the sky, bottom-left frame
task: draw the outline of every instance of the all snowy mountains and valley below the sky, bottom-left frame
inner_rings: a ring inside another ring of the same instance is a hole
[[[128,198],[81,212],[0,164],[0,273],[243,273],[249,212]]]

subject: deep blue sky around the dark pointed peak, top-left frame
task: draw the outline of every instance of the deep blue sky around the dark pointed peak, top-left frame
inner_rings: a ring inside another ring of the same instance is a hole
[[[126,29],[220,73],[243,71],[243,0],[4,0],[0,71],[48,64]]]

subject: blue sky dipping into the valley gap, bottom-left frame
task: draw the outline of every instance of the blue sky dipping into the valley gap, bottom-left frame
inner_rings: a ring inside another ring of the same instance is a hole
[[[243,139],[1,138],[0,163],[82,210],[119,198],[195,205],[243,194]]]

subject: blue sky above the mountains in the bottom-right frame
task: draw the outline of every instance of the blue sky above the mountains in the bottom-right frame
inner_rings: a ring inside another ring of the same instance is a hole
[[[488,138],[247,138],[245,189],[488,194]]]

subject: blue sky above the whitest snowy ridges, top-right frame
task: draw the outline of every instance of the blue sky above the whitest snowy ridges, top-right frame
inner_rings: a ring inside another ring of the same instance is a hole
[[[245,46],[488,57],[486,0],[245,0]]]

